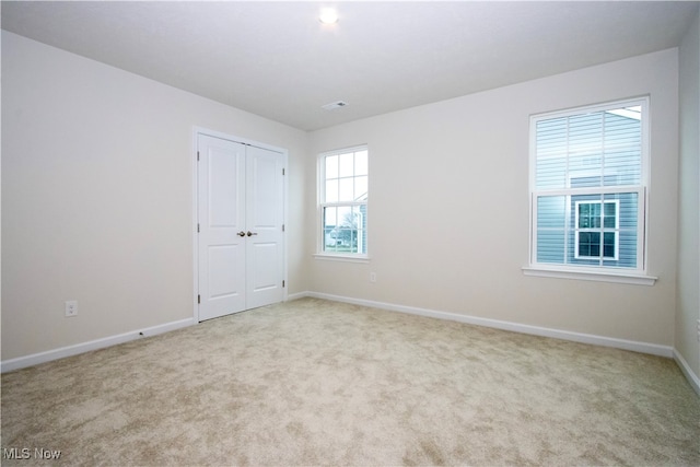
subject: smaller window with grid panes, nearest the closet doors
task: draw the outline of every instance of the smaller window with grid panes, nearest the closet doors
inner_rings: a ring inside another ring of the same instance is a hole
[[[366,147],[320,155],[320,253],[366,257],[368,168]]]

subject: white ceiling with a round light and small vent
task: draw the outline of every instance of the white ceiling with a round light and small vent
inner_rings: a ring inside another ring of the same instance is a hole
[[[698,4],[2,1],[1,14],[3,30],[314,130],[676,47]],[[335,101],[348,105],[322,108]]]

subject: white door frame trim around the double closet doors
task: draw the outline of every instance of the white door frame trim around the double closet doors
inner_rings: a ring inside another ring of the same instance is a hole
[[[289,248],[287,247],[287,238],[289,233],[289,201],[288,201],[288,177],[289,177],[289,151],[284,148],[279,148],[271,144],[261,143],[259,141],[249,140],[246,138],[236,137],[233,135],[224,133],[221,131],[210,130],[208,128],[202,127],[194,127],[192,128],[192,140],[191,140],[191,180],[192,180],[192,223],[191,223],[191,232],[192,232],[192,316],[196,323],[199,323],[199,241],[197,235],[197,224],[198,224],[198,215],[199,215],[199,178],[198,178],[198,164],[197,164],[197,144],[199,140],[199,135],[206,135],[214,138],[221,138],[229,141],[233,141],[241,144],[253,145],[256,148],[261,148],[268,151],[277,152],[282,157],[282,167],[284,168],[284,176],[282,177],[282,192],[284,197],[283,202],[283,222],[285,235],[282,236],[282,247],[283,247],[283,266],[282,266],[282,280],[285,282],[283,288],[283,297],[282,301],[287,302],[288,300],[288,291],[289,291],[289,280],[287,278],[288,272],[288,256]]]

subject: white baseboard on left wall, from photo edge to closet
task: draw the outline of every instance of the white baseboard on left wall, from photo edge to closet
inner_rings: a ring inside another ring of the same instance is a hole
[[[89,342],[77,343],[74,346],[61,347],[59,349],[48,350],[46,352],[39,352],[26,357],[5,360],[0,362],[0,373],[20,370],[27,366],[37,365],[39,363],[50,362],[52,360],[63,359],[66,357],[77,355],[79,353],[89,352],[91,350],[104,349],[105,347],[116,346],[118,343],[155,336],[195,324],[197,324],[195,318],[182,319],[178,322],[152,326],[145,329],[139,329],[117,336],[109,336],[102,339],[91,340]]]

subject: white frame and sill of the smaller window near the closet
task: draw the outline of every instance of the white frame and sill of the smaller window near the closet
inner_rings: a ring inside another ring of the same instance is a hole
[[[349,148],[342,148],[338,150],[326,151],[318,154],[317,160],[317,221],[316,221],[316,253],[314,257],[316,259],[330,259],[339,261],[350,262],[365,262],[370,260],[369,245],[365,247],[366,253],[352,253],[352,252],[332,252],[325,250],[326,240],[326,225],[324,225],[324,210],[326,208],[359,208],[364,206],[364,221],[365,221],[365,237],[369,236],[369,230],[366,229],[369,218],[369,195],[364,200],[358,201],[326,201],[326,159],[334,155],[368,152],[368,194],[369,194],[369,179],[370,179],[370,161],[369,161],[369,147],[368,144],[358,144]],[[354,175],[353,175],[354,178]]]

